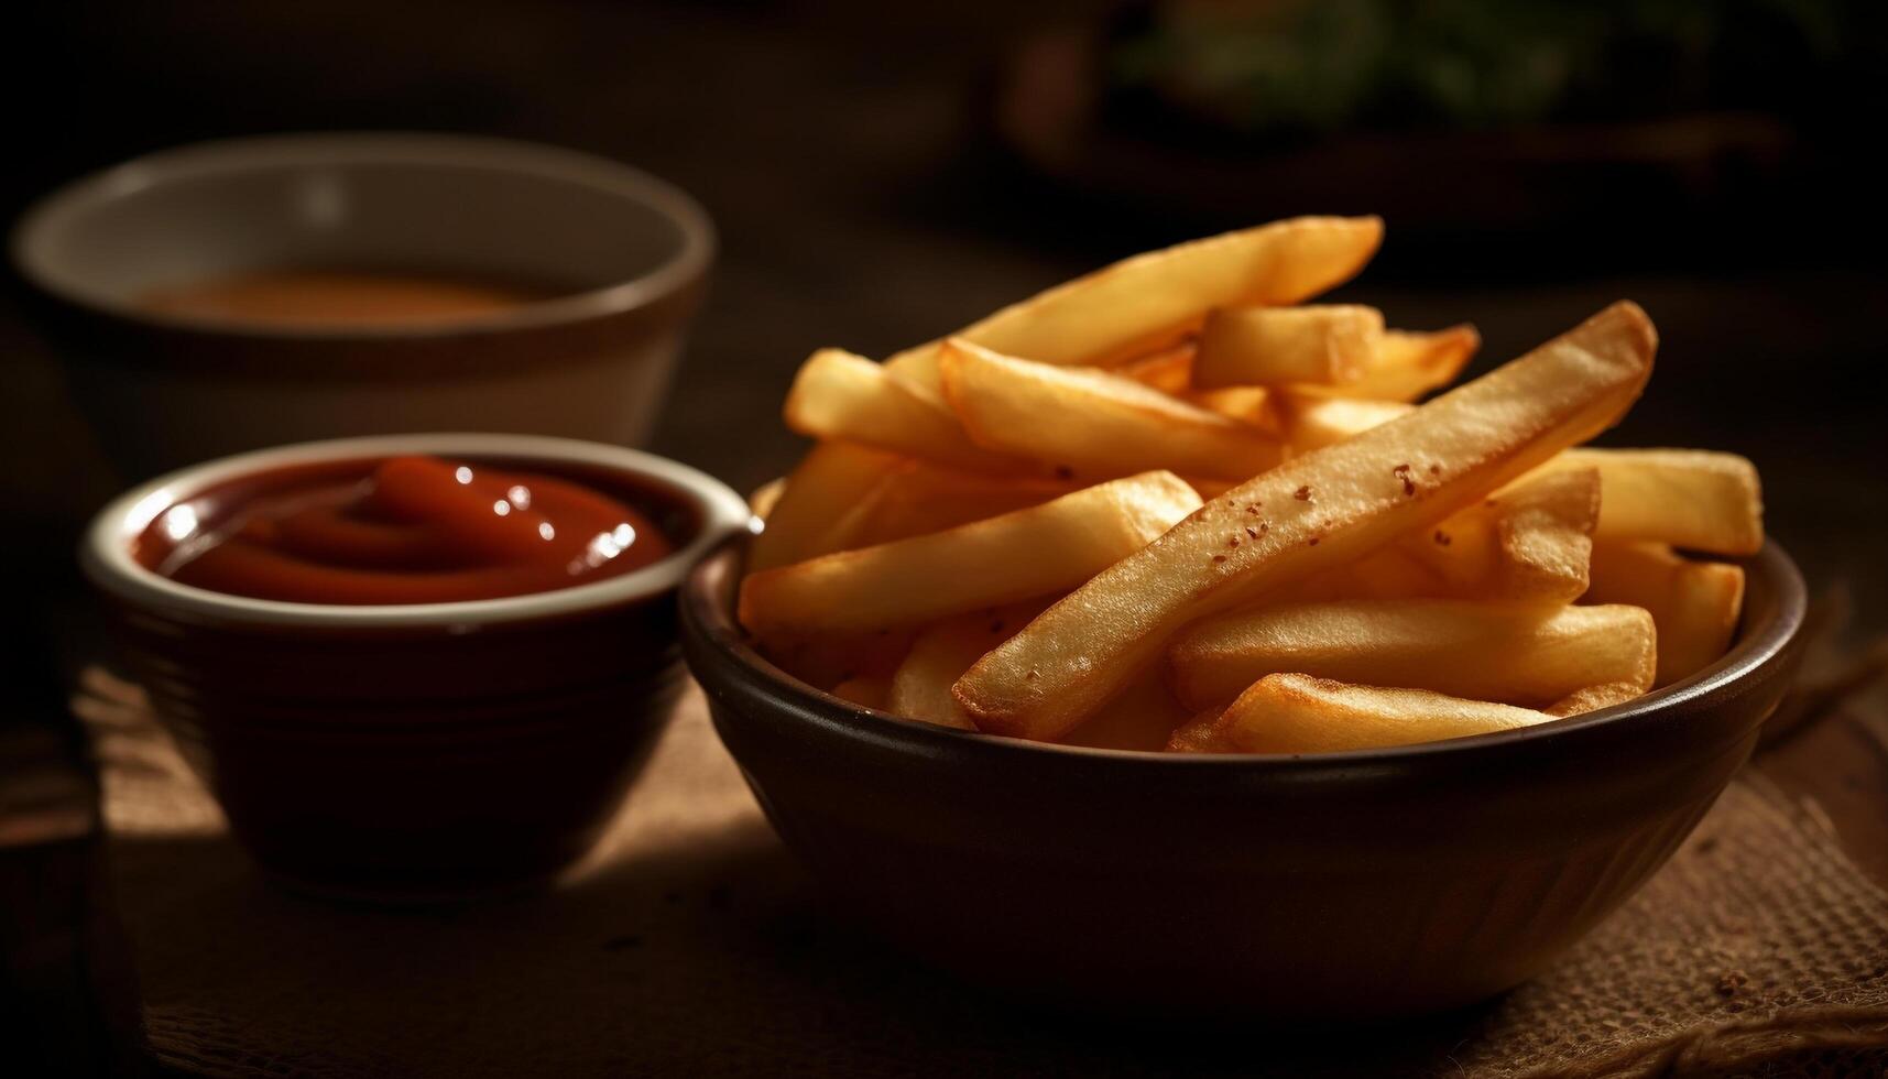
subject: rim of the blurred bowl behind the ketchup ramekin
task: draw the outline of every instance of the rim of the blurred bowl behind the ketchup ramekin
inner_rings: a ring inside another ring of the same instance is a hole
[[[164,183],[236,176],[270,168],[346,168],[427,164],[498,170],[591,187],[640,202],[666,217],[682,246],[657,266],[608,285],[555,295],[515,308],[421,323],[262,323],[181,312],[153,312],[51,268],[40,251],[60,225],[125,195]],[[219,138],[159,149],[55,187],[15,219],[8,253],[38,291],[98,316],[232,340],[402,342],[483,336],[561,327],[655,306],[700,282],[717,238],[708,212],[689,193],[608,157],[538,142],[410,130],[317,130]]]

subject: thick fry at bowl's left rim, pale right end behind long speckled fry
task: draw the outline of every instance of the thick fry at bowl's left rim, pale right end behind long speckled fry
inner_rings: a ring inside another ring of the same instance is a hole
[[[789,484],[791,489],[791,484]],[[1067,591],[1199,508],[1171,472],[1144,472],[997,518],[750,573],[755,635],[919,625]]]

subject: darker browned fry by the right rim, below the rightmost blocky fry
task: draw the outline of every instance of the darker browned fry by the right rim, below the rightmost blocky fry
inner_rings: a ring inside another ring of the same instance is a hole
[[[1658,624],[1658,682],[1669,686],[1724,658],[1745,605],[1745,571],[1692,561],[1661,542],[1593,544],[1593,603],[1631,603]]]

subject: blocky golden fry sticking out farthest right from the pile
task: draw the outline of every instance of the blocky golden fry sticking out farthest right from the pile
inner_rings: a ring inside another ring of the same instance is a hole
[[[1712,450],[1569,450],[1542,471],[1599,469],[1593,539],[1745,556],[1763,546],[1756,467]]]

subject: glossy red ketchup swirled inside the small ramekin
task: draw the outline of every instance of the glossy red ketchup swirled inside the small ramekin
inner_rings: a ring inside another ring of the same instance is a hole
[[[194,522],[179,505],[151,525],[168,546],[159,573],[291,603],[497,599],[589,584],[674,550],[640,512],[583,484],[436,457],[262,484],[211,527]]]

